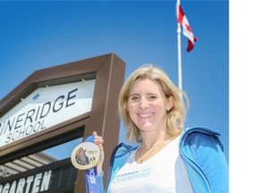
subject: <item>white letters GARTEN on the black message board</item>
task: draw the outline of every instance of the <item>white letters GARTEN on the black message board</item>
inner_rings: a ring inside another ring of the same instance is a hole
[[[38,193],[49,189],[52,171],[40,172],[36,175],[22,178],[20,180],[13,180],[0,184],[0,193]]]

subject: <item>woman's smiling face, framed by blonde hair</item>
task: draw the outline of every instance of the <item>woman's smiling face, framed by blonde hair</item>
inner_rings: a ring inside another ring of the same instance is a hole
[[[139,79],[133,83],[126,108],[134,124],[143,132],[166,129],[167,111],[172,96],[165,97],[155,80]]]

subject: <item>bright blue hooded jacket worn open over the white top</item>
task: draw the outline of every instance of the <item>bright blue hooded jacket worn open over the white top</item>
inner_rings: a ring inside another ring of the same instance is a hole
[[[228,193],[228,162],[223,154],[220,134],[215,130],[193,127],[184,130],[179,152],[195,193]],[[120,143],[113,151],[107,175],[108,185],[137,147]],[[103,173],[99,175],[100,192],[103,190]],[[101,181],[102,180],[102,181]]]

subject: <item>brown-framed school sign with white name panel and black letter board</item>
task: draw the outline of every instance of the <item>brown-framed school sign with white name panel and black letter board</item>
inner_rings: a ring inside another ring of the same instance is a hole
[[[93,130],[105,136],[108,160],[118,143],[116,104],[124,76],[125,62],[115,54],[33,72],[0,101],[0,166],[74,138],[84,140]],[[82,193],[84,172],[64,159],[0,176],[0,193],[9,192]]]

